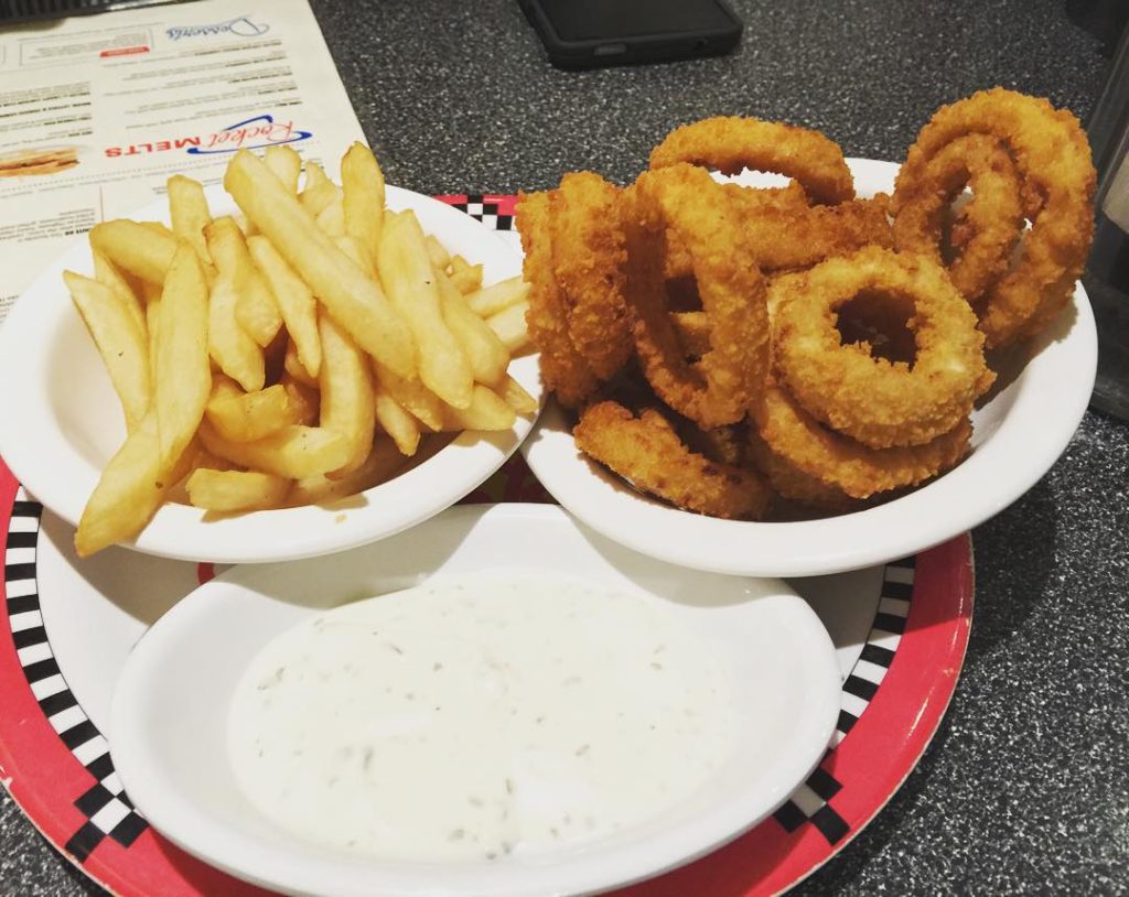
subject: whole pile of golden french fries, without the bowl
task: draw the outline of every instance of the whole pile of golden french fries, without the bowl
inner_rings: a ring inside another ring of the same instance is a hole
[[[215,512],[324,502],[402,471],[429,433],[507,430],[535,399],[507,372],[527,349],[527,284],[482,287],[355,143],[341,184],[290,147],[240,150],[212,218],[168,181],[172,228],[90,230],[94,278],[65,272],[126,438],[75,536],[80,556],[132,538],[163,502]]]

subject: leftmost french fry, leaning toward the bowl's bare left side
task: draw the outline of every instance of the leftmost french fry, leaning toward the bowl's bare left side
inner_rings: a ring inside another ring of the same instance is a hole
[[[63,282],[106,366],[121,399],[125,426],[133,430],[149,410],[149,346],[129,305],[110,287],[72,271]]]

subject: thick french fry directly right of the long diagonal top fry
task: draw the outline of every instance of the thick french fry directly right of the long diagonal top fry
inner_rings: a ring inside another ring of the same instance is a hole
[[[471,403],[474,371],[447,325],[423,230],[412,212],[388,218],[377,256],[380,282],[419,346],[419,378],[448,405]]]

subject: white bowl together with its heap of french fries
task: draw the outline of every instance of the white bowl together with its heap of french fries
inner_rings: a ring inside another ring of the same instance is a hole
[[[172,178],[0,329],[0,456],[80,555],[343,551],[453,504],[532,428],[519,255],[385,187],[360,144],[341,186],[308,165],[299,191],[300,165],[240,152],[231,196]]]

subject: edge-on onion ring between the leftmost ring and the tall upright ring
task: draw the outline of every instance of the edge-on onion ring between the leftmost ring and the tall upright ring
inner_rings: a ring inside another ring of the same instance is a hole
[[[593,172],[567,174],[551,222],[553,271],[563,290],[569,336],[602,380],[623,367],[633,348],[618,193]]]

